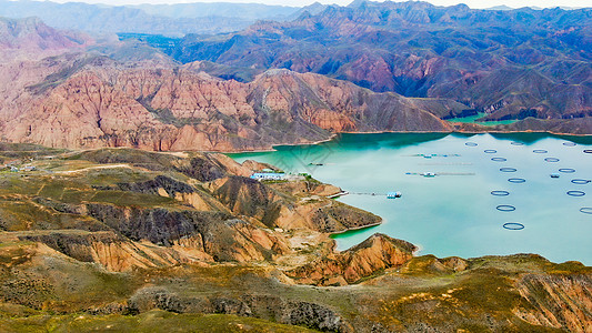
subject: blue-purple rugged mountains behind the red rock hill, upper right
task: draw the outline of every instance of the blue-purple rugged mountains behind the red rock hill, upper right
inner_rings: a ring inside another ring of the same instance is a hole
[[[360,1],[225,37],[188,36],[168,52],[235,73],[285,68],[379,92],[454,99],[490,119],[592,115],[592,9]]]

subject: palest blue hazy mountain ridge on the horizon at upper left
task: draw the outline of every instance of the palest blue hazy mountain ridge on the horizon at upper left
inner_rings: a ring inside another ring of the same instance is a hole
[[[258,19],[281,18],[299,8],[188,3],[175,6],[109,7],[81,2],[0,0],[0,17],[39,17],[60,29],[91,32],[137,32],[182,37],[185,33],[214,34],[238,31]]]

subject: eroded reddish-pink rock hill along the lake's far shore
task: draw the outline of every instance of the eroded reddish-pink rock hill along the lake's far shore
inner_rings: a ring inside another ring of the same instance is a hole
[[[465,108],[288,70],[239,83],[212,78],[195,63],[130,67],[70,58],[51,69],[39,63],[43,79],[17,82],[22,87],[12,88],[23,92],[3,97],[2,140],[74,149],[255,150],[344,131],[449,131],[434,113]]]

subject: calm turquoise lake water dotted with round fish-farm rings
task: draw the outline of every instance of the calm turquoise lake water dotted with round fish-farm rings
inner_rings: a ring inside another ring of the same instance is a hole
[[[592,138],[385,133],[344,134],[318,145],[278,147],[273,152],[232,158],[308,172],[352,193],[375,193],[339,199],[384,220],[379,226],[335,235],[341,250],[381,232],[419,245],[421,254],[539,253],[554,262],[578,260],[592,265],[592,214],[580,211],[592,208],[592,183],[571,182],[592,179],[592,154],[584,153],[586,149],[592,149]],[[559,161],[548,162],[548,158]],[[425,178],[423,172],[437,175]],[[552,173],[560,178],[552,179]],[[511,178],[525,182],[511,183]],[[403,195],[387,199],[389,191]],[[495,196],[491,191],[510,194]],[[571,196],[568,191],[585,195]],[[502,212],[499,205],[515,210]],[[506,230],[508,222],[524,229]]]

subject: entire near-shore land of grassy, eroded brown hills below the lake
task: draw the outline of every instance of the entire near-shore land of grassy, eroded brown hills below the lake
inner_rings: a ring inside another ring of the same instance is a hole
[[[0,331],[586,332],[592,269],[413,256],[380,218],[208,153],[3,144]],[[16,161],[14,158],[19,158]],[[32,159],[32,160],[31,160]],[[24,165],[36,167],[21,171]]]

